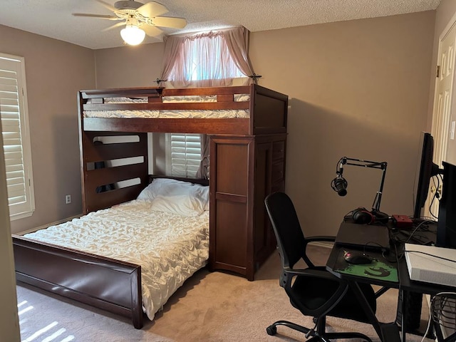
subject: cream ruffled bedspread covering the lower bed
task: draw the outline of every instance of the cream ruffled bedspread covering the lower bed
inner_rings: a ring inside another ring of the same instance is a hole
[[[24,237],[141,266],[142,305],[152,320],[209,258],[209,211],[184,217],[135,199]]]

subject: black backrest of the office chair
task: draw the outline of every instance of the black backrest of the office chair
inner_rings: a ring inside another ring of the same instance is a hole
[[[282,266],[292,268],[303,257],[306,246],[294,204],[284,192],[268,195],[264,204],[276,234]]]

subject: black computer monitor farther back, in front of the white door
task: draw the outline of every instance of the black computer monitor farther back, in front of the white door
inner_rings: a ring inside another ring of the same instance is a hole
[[[432,162],[434,156],[434,138],[430,133],[422,132],[418,149],[418,167],[415,175],[415,207],[413,218],[420,219],[421,210],[425,206],[427,192],[429,191],[430,179],[440,172],[437,165]]]

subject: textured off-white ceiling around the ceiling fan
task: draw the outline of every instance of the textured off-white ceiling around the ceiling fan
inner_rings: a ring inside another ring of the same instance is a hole
[[[114,4],[115,0],[105,0]],[[142,0],[141,2],[147,2]],[[250,31],[333,21],[390,16],[436,9],[440,0],[157,0],[165,16],[187,19],[187,26],[166,33],[245,26]],[[88,48],[122,46],[120,28],[102,31],[113,21],[72,16],[73,12],[110,14],[94,0],[0,0],[0,24]],[[161,41],[147,37],[145,43]]]

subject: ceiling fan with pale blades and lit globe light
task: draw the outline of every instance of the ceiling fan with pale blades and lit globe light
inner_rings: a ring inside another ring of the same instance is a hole
[[[73,16],[87,16],[90,18],[121,21],[105,28],[103,31],[125,26],[120,31],[120,36],[122,36],[125,43],[130,45],[141,43],[145,38],[145,34],[152,37],[160,36],[163,31],[158,27],[184,28],[187,25],[187,21],[183,18],[161,16],[167,13],[168,9],[155,1],[149,1],[143,4],[135,0],[120,0],[116,1],[114,6],[103,0],[95,1],[110,11],[113,11],[114,15],[73,13]]]

